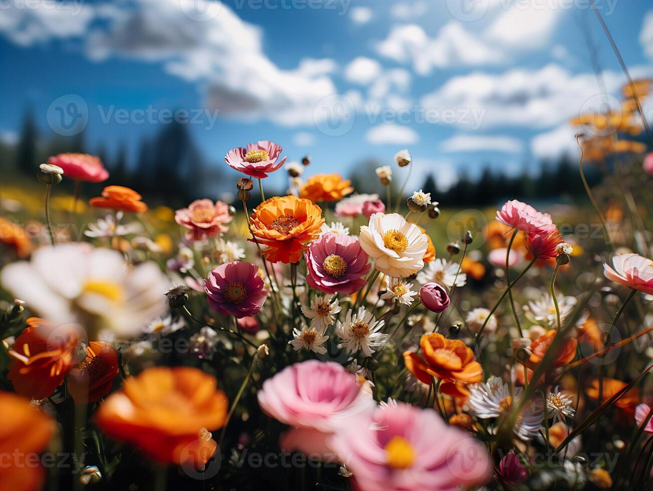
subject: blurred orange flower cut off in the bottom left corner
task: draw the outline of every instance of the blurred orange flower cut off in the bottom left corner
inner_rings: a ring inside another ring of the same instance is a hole
[[[45,473],[31,456],[48,445],[54,434],[54,419],[28,400],[7,392],[0,392],[0,414],[9,423],[0,429],[0,489],[41,489]]]

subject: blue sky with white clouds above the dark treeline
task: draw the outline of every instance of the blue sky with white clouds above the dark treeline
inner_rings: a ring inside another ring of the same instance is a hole
[[[653,74],[650,2],[597,5],[633,75]],[[588,36],[618,97],[588,0],[3,0],[0,138],[33,106],[46,134],[70,110],[91,149],[134,149],[182,109],[216,164],[269,139],[346,174],[407,147],[415,184],[434,171],[446,186],[462,166],[575,155],[565,122],[615,100]]]

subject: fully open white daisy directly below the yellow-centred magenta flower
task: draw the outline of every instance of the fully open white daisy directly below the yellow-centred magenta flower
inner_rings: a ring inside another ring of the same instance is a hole
[[[342,340],[338,348],[346,348],[348,353],[362,351],[363,355],[370,356],[375,350],[385,346],[387,334],[379,333],[385,321],[376,318],[364,307],[358,307],[358,312],[347,312],[344,321],[336,323],[336,335]]]

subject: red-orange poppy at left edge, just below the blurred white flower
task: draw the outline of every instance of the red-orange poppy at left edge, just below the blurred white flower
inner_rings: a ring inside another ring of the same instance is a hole
[[[72,366],[77,363],[80,331],[75,325],[61,325],[31,317],[16,338],[9,356],[8,379],[19,394],[43,399],[54,394]]]

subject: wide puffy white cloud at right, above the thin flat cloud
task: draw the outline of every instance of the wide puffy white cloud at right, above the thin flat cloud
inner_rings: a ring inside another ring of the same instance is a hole
[[[623,80],[614,72],[604,72],[603,76],[610,93]],[[424,110],[476,112],[482,115],[484,128],[549,128],[579,115],[581,110],[596,107],[592,100],[598,93],[594,74],[572,75],[552,64],[539,70],[515,68],[502,74],[473,72],[457,76],[424,96],[421,105]]]

